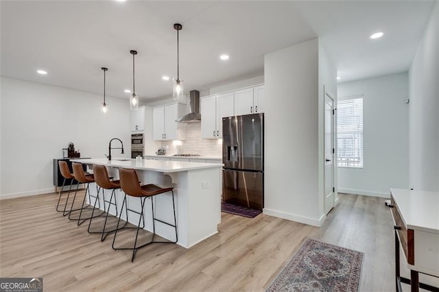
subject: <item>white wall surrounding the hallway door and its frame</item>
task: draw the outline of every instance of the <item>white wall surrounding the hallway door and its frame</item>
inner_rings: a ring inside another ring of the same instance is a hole
[[[319,216],[324,216],[324,95],[325,91],[334,99],[334,107],[337,104],[337,69],[331,58],[324,49],[322,40],[319,38],[318,42],[318,157],[319,157]],[[335,123],[336,125],[336,123]],[[334,130],[335,132],[335,130]],[[335,134],[335,133],[334,133]],[[334,141],[335,144],[335,141]],[[336,148],[336,145],[334,145]],[[334,181],[334,201],[335,204],[338,203],[338,193],[337,193],[337,167],[334,167],[333,172]]]

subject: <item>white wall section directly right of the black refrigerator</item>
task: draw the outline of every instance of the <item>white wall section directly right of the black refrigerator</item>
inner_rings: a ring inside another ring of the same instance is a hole
[[[265,55],[265,208],[320,225],[318,39]]]

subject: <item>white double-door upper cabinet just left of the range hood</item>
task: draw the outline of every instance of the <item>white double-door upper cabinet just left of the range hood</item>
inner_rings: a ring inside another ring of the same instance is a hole
[[[156,141],[184,140],[186,124],[177,123],[176,119],[185,114],[183,104],[158,106],[152,110],[153,137]]]

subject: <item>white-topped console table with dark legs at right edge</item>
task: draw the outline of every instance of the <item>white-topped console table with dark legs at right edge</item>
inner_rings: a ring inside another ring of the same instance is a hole
[[[410,191],[391,188],[391,210],[395,230],[396,290],[401,282],[419,288],[439,291],[419,282],[418,273],[439,277],[439,192]],[[401,245],[410,280],[399,271]]]

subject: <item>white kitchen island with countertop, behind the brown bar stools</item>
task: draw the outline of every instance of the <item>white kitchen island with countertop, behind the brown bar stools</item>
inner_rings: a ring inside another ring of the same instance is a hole
[[[93,165],[105,165],[108,174],[119,178],[119,168],[136,169],[142,184],[157,184],[158,186],[173,186],[176,197],[176,217],[178,230],[178,245],[189,248],[209,236],[216,234],[217,225],[221,222],[221,194],[220,171],[221,163],[180,162],[163,160],[141,160],[127,158],[90,158],[75,160],[92,168]],[[91,186],[90,191],[96,193],[96,188]],[[106,198],[110,199],[110,191]],[[118,214],[122,206],[123,192],[117,191]],[[174,221],[172,212],[171,193],[153,197],[156,218],[162,221]],[[100,206],[104,202],[102,192],[99,197]],[[91,202],[94,204],[94,202]],[[140,199],[128,196],[128,208],[140,211]],[[115,208],[110,208],[110,214],[115,215]],[[128,221],[137,225],[139,215],[134,212],[128,214]],[[122,219],[126,220],[124,212]],[[145,201],[145,229],[152,231],[151,202]],[[175,234],[169,226],[157,222],[156,234],[171,241]]]

